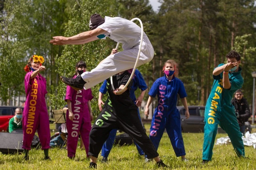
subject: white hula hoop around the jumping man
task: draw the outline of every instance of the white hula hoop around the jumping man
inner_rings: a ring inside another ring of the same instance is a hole
[[[135,65],[133,67],[133,71],[131,72],[131,76],[130,76],[128,82],[125,84],[125,86],[123,87],[122,90],[116,92],[117,94],[120,94],[128,86],[128,84],[131,82],[131,79],[133,78],[134,72],[136,70],[136,67],[137,67],[137,64],[138,64],[138,61],[139,61],[139,54],[141,53],[141,46],[142,46],[142,40],[143,40],[143,24],[142,24],[142,22],[141,22],[141,20],[139,18],[131,19],[132,22],[134,20],[138,20],[139,23],[141,24],[141,42],[139,44],[139,52],[138,52],[137,59],[135,61]],[[115,47],[116,49],[118,48],[118,45],[119,45],[119,43],[117,43],[117,46]],[[115,88],[114,88],[114,85],[113,85],[113,78],[112,78],[112,76],[110,77],[110,82],[111,82],[112,89],[114,90]]]

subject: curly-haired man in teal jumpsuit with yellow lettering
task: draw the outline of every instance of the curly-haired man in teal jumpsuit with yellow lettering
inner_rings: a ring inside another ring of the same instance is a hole
[[[242,68],[239,67],[241,56],[232,50],[226,58],[226,64],[222,63],[213,70],[214,82],[205,106],[203,163],[212,158],[218,124],[229,135],[236,154],[239,157],[245,156],[242,133],[231,104],[234,92],[243,85]]]

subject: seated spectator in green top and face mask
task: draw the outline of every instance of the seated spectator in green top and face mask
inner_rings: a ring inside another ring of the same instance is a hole
[[[22,109],[16,108],[14,112],[15,116],[9,121],[9,132],[14,129],[22,129]]]

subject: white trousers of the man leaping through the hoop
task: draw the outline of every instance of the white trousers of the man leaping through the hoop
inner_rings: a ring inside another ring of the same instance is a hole
[[[84,88],[91,88],[111,76],[122,71],[132,69],[135,65],[137,55],[139,52],[139,45],[129,50],[123,50],[116,54],[110,55],[91,71],[84,72],[81,76],[86,82]],[[138,66],[150,62],[154,57],[154,49],[151,44],[142,42],[141,53],[139,56]]]

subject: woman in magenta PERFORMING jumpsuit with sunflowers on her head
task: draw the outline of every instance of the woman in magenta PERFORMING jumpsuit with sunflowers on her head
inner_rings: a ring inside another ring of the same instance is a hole
[[[23,146],[25,149],[25,160],[29,160],[31,142],[37,131],[42,150],[45,153],[45,160],[50,159],[48,152],[50,148],[50,124],[45,102],[46,79],[39,72],[45,70],[42,66],[42,56],[32,56],[24,68],[27,72],[24,80],[26,102],[22,115]]]

